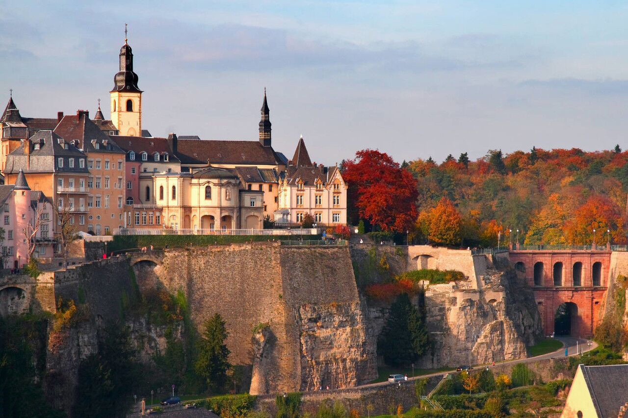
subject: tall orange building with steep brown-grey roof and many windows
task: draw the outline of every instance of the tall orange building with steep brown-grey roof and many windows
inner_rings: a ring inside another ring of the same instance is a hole
[[[87,231],[102,235],[122,228],[125,152],[89,119],[87,110],[63,116],[54,132],[87,155],[87,185],[79,180],[73,190],[67,188],[68,192],[85,194],[79,198],[78,206],[83,208],[87,202]]]

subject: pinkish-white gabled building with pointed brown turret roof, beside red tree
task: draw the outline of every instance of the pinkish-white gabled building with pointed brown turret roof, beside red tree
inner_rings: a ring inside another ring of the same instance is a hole
[[[279,227],[298,226],[306,213],[317,225],[346,225],[347,184],[337,166],[311,162],[301,137],[288,168],[279,173],[274,222]]]

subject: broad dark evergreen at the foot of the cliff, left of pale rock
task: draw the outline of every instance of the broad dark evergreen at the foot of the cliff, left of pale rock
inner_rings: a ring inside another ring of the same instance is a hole
[[[400,294],[391,305],[377,348],[384,361],[393,366],[416,362],[428,348],[425,304],[421,311],[410,302],[408,294]]]

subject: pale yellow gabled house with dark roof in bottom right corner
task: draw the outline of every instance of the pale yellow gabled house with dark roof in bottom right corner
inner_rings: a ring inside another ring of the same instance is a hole
[[[561,418],[617,418],[628,409],[628,364],[579,365]]]

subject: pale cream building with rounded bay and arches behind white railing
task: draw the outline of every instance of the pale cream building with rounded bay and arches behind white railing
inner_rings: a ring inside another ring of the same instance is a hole
[[[207,232],[263,227],[263,191],[243,190],[232,169],[154,174],[153,181],[166,228]]]

